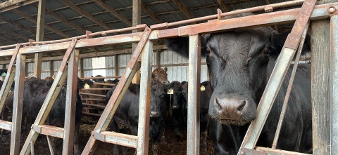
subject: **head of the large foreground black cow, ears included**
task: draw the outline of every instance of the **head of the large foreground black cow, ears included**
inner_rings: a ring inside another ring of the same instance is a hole
[[[227,18],[252,15],[244,13]],[[209,115],[221,123],[242,126],[256,119],[256,109],[268,82],[268,65],[282,50],[287,34],[277,34],[271,27],[257,27],[218,34],[206,34],[202,53],[206,56],[213,88]],[[309,41],[306,41],[309,43]],[[188,55],[189,39],[167,39],[166,45],[181,55]],[[303,50],[308,50],[307,43]]]

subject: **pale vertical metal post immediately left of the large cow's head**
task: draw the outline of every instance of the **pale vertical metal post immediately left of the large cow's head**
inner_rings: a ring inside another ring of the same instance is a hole
[[[187,154],[199,154],[199,94],[201,83],[201,36],[189,36],[188,142]]]

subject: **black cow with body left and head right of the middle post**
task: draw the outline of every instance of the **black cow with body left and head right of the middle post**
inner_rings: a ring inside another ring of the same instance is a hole
[[[113,116],[111,128],[118,133],[129,133],[137,135],[138,120],[139,120],[139,84],[131,83],[128,87],[123,99],[116,109]],[[113,86],[106,95],[106,104],[113,95],[116,86]],[[149,138],[153,140],[154,145],[158,144],[164,132],[163,115],[167,112],[165,103],[165,86],[157,79],[151,81],[151,106],[150,106],[150,126]],[[120,148],[121,153],[124,152],[124,147]],[[114,146],[113,154],[119,154],[118,146]]]

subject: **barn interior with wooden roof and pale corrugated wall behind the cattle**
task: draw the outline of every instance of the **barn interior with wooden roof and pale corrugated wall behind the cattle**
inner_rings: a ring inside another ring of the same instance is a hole
[[[150,26],[164,22],[177,22],[215,15],[218,13],[218,8],[225,13],[284,1],[288,0],[2,0],[0,1],[0,50],[12,49],[13,47],[8,48],[6,46],[15,43],[27,43],[30,40],[53,41],[67,39],[84,35],[88,32],[122,29],[141,24]],[[277,8],[273,11],[299,7],[301,6]],[[260,14],[265,13],[265,11],[253,13]],[[191,24],[196,23],[201,22]],[[277,32],[284,32],[292,29],[293,25],[294,22],[289,22],[274,25],[272,28]],[[179,26],[184,25],[174,27]],[[93,37],[130,34],[133,32],[137,32],[137,30]],[[78,75],[80,78],[96,75],[121,76],[125,71],[125,67],[127,67],[136,44],[81,48]],[[153,52],[153,70],[158,67],[163,69],[167,67],[168,81],[188,81],[188,60],[186,58],[182,58],[180,55],[168,50],[164,45],[164,41],[156,41]],[[65,50],[27,54],[25,76],[35,76],[40,79],[44,79],[47,76],[56,76],[64,55]],[[310,53],[303,55],[301,61],[309,62],[310,56]],[[0,58],[0,69],[8,68],[10,60],[11,57]],[[139,83],[139,74],[137,76],[138,78],[136,77],[133,83]],[[4,80],[5,76],[2,77]],[[119,78],[106,78],[106,80],[110,79]],[[205,58],[201,58],[202,81],[208,81]],[[86,118],[85,121],[89,123],[82,126],[83,140],[86,142],[88,134],[90,135],[90,131],[94,128],[90,123],[95,122],[97,114],[89,114],[88,117],[94,117],[94,119]],[[173,130],[169,130],[168,134],[174,134]],[[167,136],[175,137],[175,135]],[[21,141],[25,142],[25,139]],[[1,142],[4,142],[6,147],[3,147],[0,151],[3,150],[6,152],[5,154],[9,154],[7,153],[10,146],[8,137],[2,137]],[[86,142],[82,142],[82,145],[85,145]],[[175,139],[168,142],[170,142],[168,146],[161,147],[161,154],[186,154],[186,148],[180,147],[181,145],[186,146],[186,142],[177,142]],[[37,143],[43,146],[36,150],[39,152],[37,154],[49,152],[45,140]],[[205,154],[213,154],[210,138],[208,139],[208,145],[208,151]],[[100,144],[99,149],[96,149],[96,153],[111,154],[111,152],[104,150],[106,147],[113,147],[113,145]],[[134,154],[134,151],[130,149],[128,154]]]

